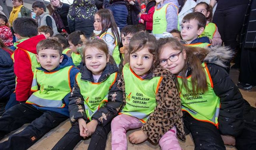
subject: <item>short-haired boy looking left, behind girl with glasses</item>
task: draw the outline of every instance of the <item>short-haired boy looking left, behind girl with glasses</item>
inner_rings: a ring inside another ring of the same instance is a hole
[[[209,47],[208,37],[198,38],[205,30],[206,18],[201,12],[191,12],[182,19],[181,37],[187,46]]]

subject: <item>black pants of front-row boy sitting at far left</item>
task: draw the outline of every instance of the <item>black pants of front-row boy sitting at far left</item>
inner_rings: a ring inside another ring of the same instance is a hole
[[[0,143],[1,150],[25,150],[43,135],[68,117],[53,111],[41,111],[30,104],[17,104],[8,109],[0,118],[0,138],[30,123],[23,131],[11,135],[9,140]]]

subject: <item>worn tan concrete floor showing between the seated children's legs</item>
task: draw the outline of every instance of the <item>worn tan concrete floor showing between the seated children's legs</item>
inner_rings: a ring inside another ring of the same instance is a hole
[[[238,74],[239,72],[236,70],[230,71],[230,76],[232,77],[232,80],[237,83],[238,82]],[[255,101],[256,101],[256,87],[253,87],[251,90],[240,90],[243,98],[249,101],[249,103],[255,107]],[[9,135],[13,133],[18,133],[22,129],[24,129],[26,125],[21,127],[20,129],[10,133]],[[61,123],[56,128],[52,129],[50,132],[48,132],[46,135],[43,136],[37,143],[35,143],[32,147],[30,147],[28,150],[50,150],[57,142],[60,140],[63,135],[69,130],[71,127],[71,124],[68,120]],[[138,130],[138,129],[137,129]],[[134,130],[127,132],[127,135],[132,133]],[[8,136],[4,137],[4,139],[0,140],[0,142],[7,140]],[[90,143],[90,139],[88,140],[82,140],[80,141],[77,146],[75,147],[75,150],[85,150],[88,148],[88,145]],[[180,145],[183,150],[193,150],[194,149],[194,143],[191,139],[191,135],[187,135],[186,142],[181,142]],[[226,146],[227,150],[236,150],[232,146]],[[111,150],[111,134],[109,134],[108,140],[107,140],[107,146],[106,150]],[[146,141],[144,143],[134,145],[128,142],[128,150],[160,150],[159,145],[153,145],[149,141]]]

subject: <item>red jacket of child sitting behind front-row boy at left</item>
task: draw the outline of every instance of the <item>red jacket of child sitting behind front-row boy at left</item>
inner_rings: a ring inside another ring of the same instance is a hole
[[[37,35],[17,45],[18,48],[14,52],[14,73],[17,77],[15,89],[17,101],[26,101],[32,94],[30,89],[33,80],[33,72],[30,57],[26,51],[36,54],[37,43],[44,39],[46,39],[44,35]]]

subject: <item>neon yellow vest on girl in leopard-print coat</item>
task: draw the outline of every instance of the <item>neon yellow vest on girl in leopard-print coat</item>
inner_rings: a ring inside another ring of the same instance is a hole
[[[157,105],[156,94],[162,77],[141,79],[132,71],[128,63],[124,65],[123,76],[126,104],[121,113],[136,117],[145,123]]]

